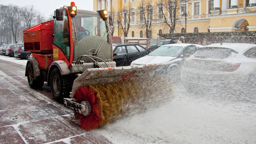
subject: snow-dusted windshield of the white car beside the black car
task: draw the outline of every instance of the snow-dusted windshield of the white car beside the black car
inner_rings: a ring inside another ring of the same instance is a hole
[[[180,52],[180,50],[183,47],[179,47],[179,46],[161,46],[158,49],[150,52],[148,55],[149,56],[172,56],[172,57],[176,57],[176,55],[178,54],[178,52]]]

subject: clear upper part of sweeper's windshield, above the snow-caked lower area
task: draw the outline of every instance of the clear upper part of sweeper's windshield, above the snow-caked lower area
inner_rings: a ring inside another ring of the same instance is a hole
[[[95,14],[77,13],[74,18],[77,41],[87,36],[98,36],[108,40],[106,22]]]

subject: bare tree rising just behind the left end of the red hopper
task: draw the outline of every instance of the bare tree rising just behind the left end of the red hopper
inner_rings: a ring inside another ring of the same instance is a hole
[[[33,5],[22,7],[20,14],[22,16],[22,22],[24,23],[25,29],[32,27],[37,21],[37,10],[34,9]]]

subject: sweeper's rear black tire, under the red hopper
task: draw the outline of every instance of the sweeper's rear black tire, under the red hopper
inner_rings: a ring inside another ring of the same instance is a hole
[[[32,63],[28,63],[27,67],[27,78],[28,78],[28,84],[33,89],[41,88],[44,85],[44,81],[42,81],[41,76],[34,77],[34,70]]]

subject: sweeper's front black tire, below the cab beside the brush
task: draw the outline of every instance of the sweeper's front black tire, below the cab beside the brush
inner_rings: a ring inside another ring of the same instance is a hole
[[[54,68],[50,73],[50,88],[53,98],[62,102],[63,98],[69,97],[71,92],[73,79],[71,76],[61,76],[58,68]]]

